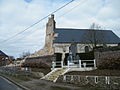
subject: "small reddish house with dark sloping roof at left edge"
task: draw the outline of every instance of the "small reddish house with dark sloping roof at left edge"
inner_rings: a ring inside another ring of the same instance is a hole
[[[0,66],[5,66],[9,63],[9,56],[0,50]]]

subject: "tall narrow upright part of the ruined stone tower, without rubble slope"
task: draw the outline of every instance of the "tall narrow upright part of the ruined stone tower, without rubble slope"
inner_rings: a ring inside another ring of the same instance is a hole
[[[46,37],[45,37],[45,48],[49,54],[53,53],[53,40],[54,40],[54,29],[55,29],[55,20],[54,15],[51,14],[51,17],[48,19],[46,24]]]

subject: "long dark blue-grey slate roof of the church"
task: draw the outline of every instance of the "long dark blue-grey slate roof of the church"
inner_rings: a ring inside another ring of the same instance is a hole
[[[120,38],[111,30],[90,30],[90,29],[69,29],[69,28],[56,28],[54,32],[58,34],[55,37],[54,43],[97,43],[116,44],[120,43]],[[95,35],[95,40],[94,40]]]

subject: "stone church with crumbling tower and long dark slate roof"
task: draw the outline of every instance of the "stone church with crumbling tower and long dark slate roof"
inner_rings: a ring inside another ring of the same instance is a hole
[[[46,24],[45,46],[30,57],[55,55],[56,61],[67,65],[69,59],[94,59],[94,44],[109,47],[119,43],[120,38],[112,30],[57,28],[54,15],[51,15]]]

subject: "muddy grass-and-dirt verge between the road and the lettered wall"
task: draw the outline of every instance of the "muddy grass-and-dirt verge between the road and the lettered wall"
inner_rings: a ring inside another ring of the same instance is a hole
[[[8,77],[10,80],[28,88],[28,90],[103,90],[94,87],[79,87],[73,84],[66,83],[53,83],[46,80],[35,79],[30,77],[15,77],[10,75],[4,75]]]

